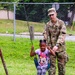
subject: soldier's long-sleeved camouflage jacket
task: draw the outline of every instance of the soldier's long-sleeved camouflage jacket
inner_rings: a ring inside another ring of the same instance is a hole
[[[44,36],[51,48],[56,45],[59,51],[65,50],[66,26],[62,20],[57,19],[55,24],[49,21],[46,24]]]

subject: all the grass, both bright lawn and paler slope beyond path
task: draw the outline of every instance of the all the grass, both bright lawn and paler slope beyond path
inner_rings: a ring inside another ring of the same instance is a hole
[[[29,22],[34,27],[34,32],[43,32],[44,23]],[[13,20],[0,20],[0,33],[13,33]],[[26,21],[16,21],[16,33],[28,32]],[[75,31],[67,27],[67,34],[75,35]],[[35,49],[38,46],[38,40],[34,40]],[[66,75],[75,75],[75,42],[66,42],[67,53],[69,54],[69,62],[66,65]],[[9,75],[36,75],[36,68],[33,58],[29,56],[31,42],[26,38],[0,36],[0,48],[9,72]],[[5,71],[0,60],[0,75],[5,75]],[[58,74],[57,74],[58,75]]]

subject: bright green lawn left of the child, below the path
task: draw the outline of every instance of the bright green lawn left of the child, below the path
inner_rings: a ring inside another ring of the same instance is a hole
[[[18,38],[16,42],[13,42],[11,37],[0,37],[0,48],[2,49],[9,75],[35,75],[34,70],[36,69],[33,64],[33,58],[29,56],[30,46],[29,39]],[[0,67],[0,75],[5,75],[1,60]]]

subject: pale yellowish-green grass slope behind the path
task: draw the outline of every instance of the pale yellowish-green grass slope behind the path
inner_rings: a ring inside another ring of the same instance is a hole
[[[34,27],[34,32],[43,32],[45,23],[28,22],[30,26]],[[16,33],[28,32],[28,25],[26,21],[16,20]],[[13,20],[0,20],[0,33],[13,33]],[[75,35],[75,26],[67,27],[67,34]]]

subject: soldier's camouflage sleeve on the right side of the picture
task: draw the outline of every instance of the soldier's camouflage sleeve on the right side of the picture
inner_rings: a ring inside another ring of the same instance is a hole
[[[61,29],[60,29],[60,34],[56,43],[56,46],[62,45],[65,43],[65,38],[66,38],[66,26],[64,22],[61,22]]]

